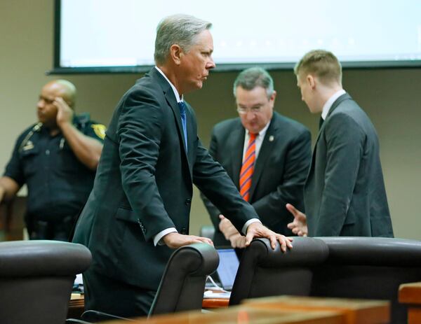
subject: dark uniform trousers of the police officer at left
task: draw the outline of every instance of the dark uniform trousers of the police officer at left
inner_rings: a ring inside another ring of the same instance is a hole
[[[52,239],[69,241],[76,216],[65,216],[53,220],[29,219],[27,224],[29,239]]]

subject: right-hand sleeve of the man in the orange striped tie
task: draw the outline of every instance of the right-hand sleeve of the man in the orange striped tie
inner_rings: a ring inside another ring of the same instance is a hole
[[[303,188],[312,159],[311,143],[311,135],[307,129],[291,141],[283,165],[282,183],[275,191],[253,202],[262,222],[281,234],[290,234],[286,225],[293,221],[286,204],[290,203],[304,210]]]

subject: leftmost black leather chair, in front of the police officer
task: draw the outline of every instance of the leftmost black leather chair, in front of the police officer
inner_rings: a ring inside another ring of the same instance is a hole
[[[64,323],[75,276],[90,263],[91,252],[80,244],[1,242],[1,323]]]

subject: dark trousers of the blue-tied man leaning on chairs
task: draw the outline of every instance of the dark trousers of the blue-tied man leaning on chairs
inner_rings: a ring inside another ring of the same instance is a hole
[[[85,311],[102,311],[126,318],[146,316],[156,294],[156,291],[123,283],[93,269],[83,273],[83,289]]]

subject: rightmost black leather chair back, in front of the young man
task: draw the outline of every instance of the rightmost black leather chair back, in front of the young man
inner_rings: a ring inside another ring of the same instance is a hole
[[[311,295],[388,300],[391,323],[406,323],[401,283],[421,281],[421,241],[385,237],[319,237],[329,249],[314,268]]]

